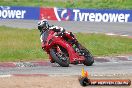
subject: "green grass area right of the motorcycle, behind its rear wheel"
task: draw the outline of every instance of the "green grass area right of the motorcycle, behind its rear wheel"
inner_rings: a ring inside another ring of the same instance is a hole
[[[78,33],[77,37],[94,56],[132,54],[132,39],[130,38],[84,33]]]

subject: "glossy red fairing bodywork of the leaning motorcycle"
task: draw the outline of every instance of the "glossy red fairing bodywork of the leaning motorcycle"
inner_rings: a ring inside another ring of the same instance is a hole
[[[55,33],[54,31],[50,30],[49,36],[47,38],[47,42],[45,44],[46,47],[45,50],[48,54],[52,46],[60,45],[68,51],[70,63],[73,63],[76,60],[79,60],[80,62],[84,61],[84,57],[79,56],[78,53],[75,52],[75,50],[73,49],[70,43],[67,43],[61,36],[54,36],[54,33]],[[49,41],[51,40],[52,42],[49,43]],[[51,57],[50,60],[52,60]]]

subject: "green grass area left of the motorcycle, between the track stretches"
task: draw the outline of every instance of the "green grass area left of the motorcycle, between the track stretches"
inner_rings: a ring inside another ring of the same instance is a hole
[[[45,58],[37,30],[0,27],[0,61]]]

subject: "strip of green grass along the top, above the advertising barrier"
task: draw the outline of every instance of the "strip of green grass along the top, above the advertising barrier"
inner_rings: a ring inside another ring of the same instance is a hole
[[[0,0],[0,5],[132,9],[132,0]]]

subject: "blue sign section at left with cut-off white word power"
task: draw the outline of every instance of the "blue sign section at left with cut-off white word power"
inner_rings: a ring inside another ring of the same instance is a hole
[[[38,20],[40,8],[0,6],[0,19],[34,19]]]

